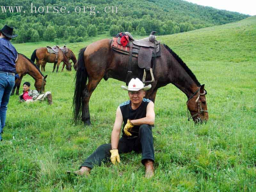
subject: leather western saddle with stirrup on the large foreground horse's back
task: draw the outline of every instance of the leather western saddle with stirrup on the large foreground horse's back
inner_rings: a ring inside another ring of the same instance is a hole
[[[120,42],[121,37],[113,37],[111,48],[117,52],[129,55],[128,71],[126,76],[126,84],[128,85],[130,76],[132,74],[132,57],[136,57],[138,67],[144,69],[142,77],[143,83],[152,83],[155,81],[153,69],[156,62],[156,57],[161,56],[160,41],[156,40],[156,32],[152,31],[151,34],[144,39],[134,40],[131,33],[125,32],[129,36],[129,43],[123,46]],[[153,58],[153,59],[152,59]],[[151,80],[146,81],[147,71],[149,71]]]

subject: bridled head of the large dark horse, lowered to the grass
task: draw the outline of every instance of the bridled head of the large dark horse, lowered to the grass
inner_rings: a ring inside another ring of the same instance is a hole
[[[191,117],[195,123],[202,123],[208,120],[208,110],[206,104],[205,95],[207,94],[204,89],[204,84],[194,92],[187,101],[188,110],[190,111]]]

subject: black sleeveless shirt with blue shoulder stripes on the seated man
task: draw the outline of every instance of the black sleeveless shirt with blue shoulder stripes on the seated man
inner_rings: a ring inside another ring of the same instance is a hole
[[[135,109],[135,110],[132,109],[131,101],[130,100],[129,101],[125,101],[124,103],[119,105],[119,107],[121,109],[121,112],[122,112],[122,115],[123,115],[123,120],[124,120],[123,129],[122,129],[122,133],[123,133],[122,137],[125,137],[125,138],[129,138],[130,137],[131,138],[131,137],[139,135],[139,128],[140,128],[139,125],[134,125],[134,127],[132,127],[132,130],[130,131],[132,136],[125,135],[125,133],[124,133],[124,126],[127,123],[127,119],[133,120],[133,119],[140,119],[140,118],[146,117],[147,106],[148,106],[148,103],[150,101],[151,100],[149,100],[149,99],[143,98],[140,106],[137,109]]]

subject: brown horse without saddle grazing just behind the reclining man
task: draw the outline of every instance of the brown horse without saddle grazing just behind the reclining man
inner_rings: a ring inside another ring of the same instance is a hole
[[[28,59],[25,55],[19,53],[18,60],[15,64],[16,73],[19,75],[20,78],[15,80],[15,85],[12,89],[11,95],[14,94],[16,88],[16,95],[19,95],[20,83],[26,74],[30,75],[35,79],[35,88],[39,93],[44,93],[44,87],[46,84],[46,76],[44,76],[40,69],[36,66],[36,64]]]

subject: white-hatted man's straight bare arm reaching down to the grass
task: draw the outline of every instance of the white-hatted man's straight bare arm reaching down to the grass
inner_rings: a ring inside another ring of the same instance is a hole
[[[116,109],[116,120],[111,134],[111,147],[117,149],[121,127],[123,124],[123,115],[120,107]]]

